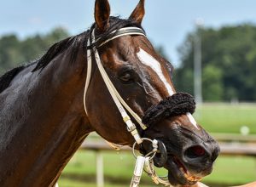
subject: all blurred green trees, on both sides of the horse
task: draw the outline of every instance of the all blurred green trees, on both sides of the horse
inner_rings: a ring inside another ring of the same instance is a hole
[[[202,41],[202,94],[204,101],[256,100],[256,26],[201,28],[191,32],[178,48],[181,65],[174,71],[178,91],[194,94],[194,38]],[[68,37],[63,28],[20,40],[14,34],[0,37],[0,75],[42,56],[57,41]],[[157,48],[166,56],[165,49]]]

